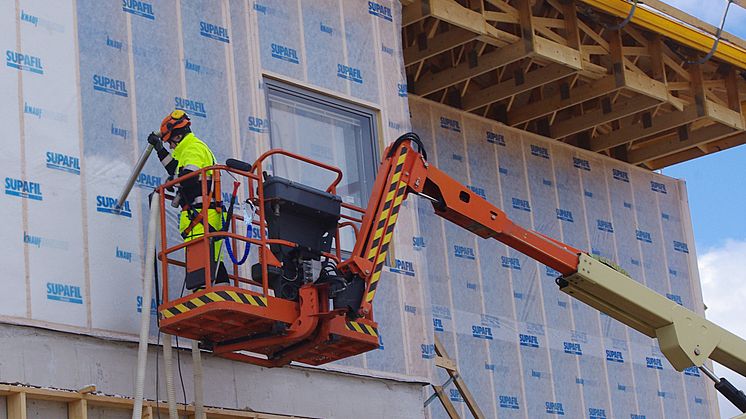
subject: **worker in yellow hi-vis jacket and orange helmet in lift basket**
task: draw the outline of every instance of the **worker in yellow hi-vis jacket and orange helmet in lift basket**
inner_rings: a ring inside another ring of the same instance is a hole
[[[197,138],[190,128],[192,122],[189,116],[182,110],[175,110],[163,118],[161,122],[160,137],[151,133],[148,136],[148,143],[158,152],[163,167],[170,176],[184,176],[191,172],[197,171],[203,167],[215,164],[215,155],[210,148]],[[163,146],[168,146],[173,150],[173,154]],[[207,176],[207,193],[208,196],[212,191],[212,171],[205,173]],[[193,223],[202,207],[202,185],[201,176],[191,177],[181,182],[177,193],[179,205],[181,205],[181,215],[179,217],[179,232],[185,242],[202,237],[204,227],[202,221]],[[210,231],[218,231],[222,228],[221,213],[215,210],[215,204],[212,202],[207,210],[208,223]],[[210,246],[210,271],[216,283],[228,282],[228,271],[221,260],[220,240],[215,240]],[[186,258],[188,261],[190,249],[186,249]],[[186,288],[196,291],[205,286],[204,269],[189,272],[185,278]]]

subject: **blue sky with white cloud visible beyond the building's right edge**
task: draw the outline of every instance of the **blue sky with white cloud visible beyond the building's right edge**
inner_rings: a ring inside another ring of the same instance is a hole
[[[664,0],[715,26],[726,0]],[[746,38],[746,10],[732,4],[725,30]],[[663,174],[686,180],[694,226],[697,264],[707,318],[746,338],[746,146],[663,169]],[[719,365],[719,376],[746,391],[746,378]],[[720,414],[740,412],[719,396]]]

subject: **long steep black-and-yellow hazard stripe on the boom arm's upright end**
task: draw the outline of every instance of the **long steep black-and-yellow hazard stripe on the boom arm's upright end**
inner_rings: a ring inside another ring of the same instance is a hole
[[[407,148],[403,147],[401,154],[397,159],[394,175],[391,177],[391,183],[389,184],[389,189],[384,201],[383,211],[381,211],[381,215],[378,218],[376,233],[373,236],[373,243],[368,252],[368,260],[374,263],[374,268],[373,276],[371,277],[370,285],[368,286],[368,292],[365,295],[365,301],[367,302],[373,301],[373,297],[376,295],[378,280],[381,278],[381,270],[383,270],[383,264],[386,262],[386,252],[391,243],[391,238],[394,235],[394,226],[396,225],[396,219],[399,215],[399,208],[404,200],[404,194],[407,191],[406,182],[400,180],[406,158]],[[376,257],[376,254],[378,254],[378,257]]]

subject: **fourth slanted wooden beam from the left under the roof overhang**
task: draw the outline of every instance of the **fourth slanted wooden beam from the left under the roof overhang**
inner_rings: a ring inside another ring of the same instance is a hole
[[[615,76],[610,75],[581,87],[569,89],[567,97],[562,95],[562,89],[560,89],[560,92],[553,96],[544,97],[539,101],[528,103],[521,108],[510,111],[508,113],[508,125],[520,125],[587,100],[607,95],[622,87],[623,84],[617,84]]]

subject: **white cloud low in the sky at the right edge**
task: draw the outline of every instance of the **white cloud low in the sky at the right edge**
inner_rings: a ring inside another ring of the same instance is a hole
[[[727,240],[719,247],[707,249],[698,260],[702,295],[707,318],[721,327],[746,338],[746,240]],[[720,365],[718,376],[726,377],[746,391],[746,378]],[[740,412],[727,400],[720,399],[720,414],[730,418]]]

